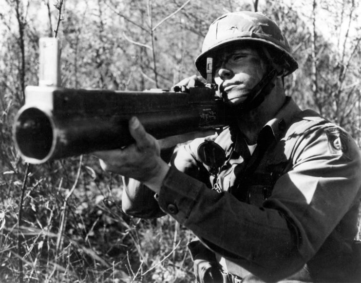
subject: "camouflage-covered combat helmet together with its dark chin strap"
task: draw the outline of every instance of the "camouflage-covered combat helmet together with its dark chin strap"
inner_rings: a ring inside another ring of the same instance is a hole
[[[277,76],[284,78],[298,68],[297,61],[291,55],[289,44],[280,28],[261,13],[250,11],[228,13],[209,26],[202,53],[195,60],[195,66],[204,78],[207,77],[207,68],[209,69],[207,58],[217,57],[217,52],[228,46],[255,48],[260,56],[266,59],[268,66],[266,74],[253,89],[242,91],[243,95],[247,94],[247,99],[237,105],[237,109],[242,111],[258,107],[271,93]],[[226,103],[230,102],[228,94],[221,89],[217,96],[222,96]]]

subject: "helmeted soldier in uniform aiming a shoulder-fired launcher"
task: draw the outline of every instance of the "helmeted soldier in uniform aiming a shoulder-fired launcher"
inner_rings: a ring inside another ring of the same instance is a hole
[[[279,27],[259,13],[224,15],[196,58],[203,77],[207,57],[229,127],[179,146],[169,165],[132,118],[135,144],[95,154],[105,170],[132,178],[123,209],[167,213],[192,230],[198,282],[360,282],[360,152],[342,128],[285,95],[298,64]]]

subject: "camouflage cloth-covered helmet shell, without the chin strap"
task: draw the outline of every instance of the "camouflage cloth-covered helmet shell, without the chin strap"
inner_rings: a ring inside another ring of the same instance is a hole
[[[242,47],[245,43],[266,47],[273,63],[284,69],[284,76],[298,68],[288,42],[277,24],[261,13],[242,11],[223,15],[209,26],[202,53],[195,60],[197,70],[206,77],[207,57],[212,57],[225,46]]]

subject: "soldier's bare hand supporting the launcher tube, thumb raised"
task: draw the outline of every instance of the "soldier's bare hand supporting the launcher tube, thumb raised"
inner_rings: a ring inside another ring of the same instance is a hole
[[[155,192],[159,192],[169,170],[160,157],[158,141],[147,133],[136,117],[129,121],[129,131],[135,140],[122,150],[96,151],[103,170],[136,179]]]

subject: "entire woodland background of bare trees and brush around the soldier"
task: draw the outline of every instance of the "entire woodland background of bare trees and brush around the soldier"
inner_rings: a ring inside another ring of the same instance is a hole
[[[25,86],[38,84],[40,37],[60,40],[63,87],[167,89],[196,74],[193,60],[214,19],[264,12],[300,64],[287,93],[361,145],[360,1],[297,2],[0,0],[0,282],[193,280],[190,231],[170,217],[124,215],[121,178],[95,158],[39,166],[19,159],[12,123]]]

